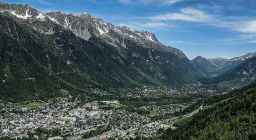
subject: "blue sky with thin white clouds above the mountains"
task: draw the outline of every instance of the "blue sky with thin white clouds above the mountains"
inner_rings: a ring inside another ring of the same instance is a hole
[[[88,12],[105,22],[155,33],[190,59],[256,52],[256,0],[1,0],[41,12]]]

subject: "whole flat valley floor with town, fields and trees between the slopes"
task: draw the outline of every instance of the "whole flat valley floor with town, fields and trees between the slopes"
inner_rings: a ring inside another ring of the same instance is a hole
[[[158,138],[191,120],[199,99],[222,95],[213,87],[186,85],[136,89],[91,89],[88,95],[1,104],[4,138],[68,140]],[[90,97],[90,98],[88,98]]]

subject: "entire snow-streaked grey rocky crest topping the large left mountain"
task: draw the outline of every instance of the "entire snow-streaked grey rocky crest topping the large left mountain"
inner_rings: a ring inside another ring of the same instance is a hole
[[[114,46],[126,46],[125,40],[135,42],[160,43],[153,33],[147,31],[134,31],[126,26],[115,26],[112,23],[105,23],[100,18],[94,18],[85,12],[80,15],[64,14],[60,11],[43,14],[28,5],[0,4],[0,12],[7,11],[17,18],[24,20],[53,21],[62,27],[71,30],[75,35],[85,40],[89,40],[92,35],[104,38]],[[38,30],[38,27],[35,27]],[[54,33],[38,30],[41,33]]]

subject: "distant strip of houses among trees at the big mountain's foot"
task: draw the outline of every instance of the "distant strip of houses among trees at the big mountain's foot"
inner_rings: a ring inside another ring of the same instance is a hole
[[[217,90],[209,89],[208,87],[199,85],[185,85],[185,86],[163,86],[163,87],[143,87],[135,89],[108,89],[107,91],[92,90],[94,95],[99,97],[112,98],[148,98],[159,99],[166,97],[188,97],[194,95],[218,95]]]

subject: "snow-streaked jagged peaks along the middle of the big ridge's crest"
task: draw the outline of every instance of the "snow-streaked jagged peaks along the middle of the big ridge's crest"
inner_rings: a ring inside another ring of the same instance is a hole
[[[71,15],[71,14],[56,14],[56,13],[47,13],[46,14],[50,20],[56,22],[57,24],[62,25],[65,28],[69,28],[75,32],[81,38],[86,38],[88,40],[88,35],[96,34],[96,36],[101,36],[104,38],[109,38],[113,40],[112,32],[119,36],[127,37],[133,39],[135,41],[151,41],[155,43],[159,43],[156,39],[156,36],[153,33],[149,33],[147,31],[134,31],[126,26],[115,26],[112,23],[105,23],[100,18],[93,18],[90,14],[85,13],[79,16]],[[90,31],[89,31],[90,28]],[[86,37],[84,34],[86,33]],[[108,39],[108,40],[109,40]],[[114,39],[116,40],[116,39]],[[121,40],[119,42],[122,42]],[[112,42],[114,43],[114,42]]]

